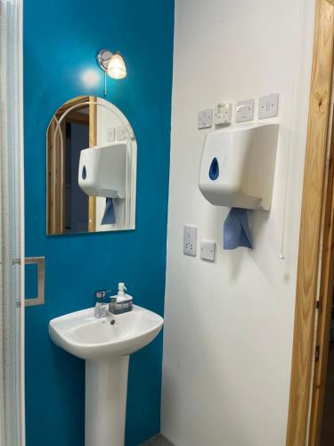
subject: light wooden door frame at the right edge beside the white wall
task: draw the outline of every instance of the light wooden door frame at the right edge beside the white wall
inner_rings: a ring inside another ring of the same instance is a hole
[[[320,390],[327,366],[323,327],[325,307],[333,291],[334,236],[332,144],[328,150],[334,40],[334,0],[330,2],[316,0],[315,8],[287,446],[318,444],[323,401]],[[318,299],[324,310],[319,312],[317,324]],[[316,342],[321,339],[319,362],[314,368]]]

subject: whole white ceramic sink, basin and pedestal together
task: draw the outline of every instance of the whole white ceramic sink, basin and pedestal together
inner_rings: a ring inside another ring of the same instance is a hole
[[[151,343],[163,322],[137,305],[106,318],[91,308],[50,321],[53,343],[86,359],[86,446],[124,446],[129,355]]]

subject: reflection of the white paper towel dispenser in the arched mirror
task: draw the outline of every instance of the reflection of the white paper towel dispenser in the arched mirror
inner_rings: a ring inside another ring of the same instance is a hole
[[[80,153],[78,184],[90,196],[126,198],[125,143],[84,149]]]

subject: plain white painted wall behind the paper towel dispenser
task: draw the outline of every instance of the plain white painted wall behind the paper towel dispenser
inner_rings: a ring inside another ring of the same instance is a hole
[[[161,430],[177,446],[285,444],[313,32],[314,0],[175,1]],[[197,113],[269,93],[272,211],[250,216],[254,251],[224,251],[228,209],[198,188]],[[183,256],[184,224],[216,240],[216,263]]]

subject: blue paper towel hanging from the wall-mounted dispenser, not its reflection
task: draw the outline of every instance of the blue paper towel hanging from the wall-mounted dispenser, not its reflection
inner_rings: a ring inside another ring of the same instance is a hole
[[[247,209],[232,208],[224,221],[224,250],[239,246],[253,249],[249,230]]]

